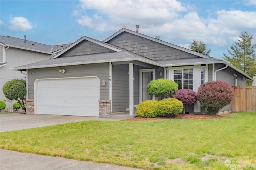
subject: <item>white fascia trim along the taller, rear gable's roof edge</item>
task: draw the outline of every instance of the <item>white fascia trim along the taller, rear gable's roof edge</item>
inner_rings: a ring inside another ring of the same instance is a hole
[[[144,34],[140,34],[138,32],[134,32],[132,30],[128,30],[126,28],[122,28],[121,30],[119,30],[118,32],[116,32],[115,34],[113,34],[112,36],[110,36],[109,38],[107,38],[106,40],[104,40],[103,42],[108,42],[109,40],[111,40],[112,38],[118,36],[119,34],[121,34],[122,32],[128,32],[130,34],[134,34],[136,36],[140,36],[142,38],[146,38],[148,40],[152,40],[154,42],[158,42],[158,43],[161,43],[161,44],[164,44],[164,45],[167,45],[169,47],[172,47],[172,48],[175,48],[175,49],[179,49],[181,51],[185,51],[187,53],[190,53],[190,54],[193,54],[193,55],[196,55],[196,56],[199,56],[199,57],[202,57],[202,58],[211,58],[207,55],[204,55],[204,54],[201,54],[201,53],[198,53],[198,52],[195,52],[195,51],[192,51],[192,50],[189,50],[189,49],[186,49],[186,48],[183,48],[183,47],[180,47],[178,45],[174,45],[174,44],[171,44],[171,43],[168,43],[168,42],[164,42],[162,40],[158,40],[156,38],[153,38],[153,37],[150,37],[150,36],[146,36]]]

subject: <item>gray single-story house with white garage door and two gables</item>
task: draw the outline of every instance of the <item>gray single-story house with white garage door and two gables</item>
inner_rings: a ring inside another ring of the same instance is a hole
[[[83,36],[49,60],[13,68],[27,71],[29,113],[108,117],[152,99],[146,86],[171,79],[197,91],[201,83],[245,86],[251,79],[213,57],[122,28],[103,42]],[[200,103],[186,109],[204,111]],[[221,111],[231,111],[231,105]]]

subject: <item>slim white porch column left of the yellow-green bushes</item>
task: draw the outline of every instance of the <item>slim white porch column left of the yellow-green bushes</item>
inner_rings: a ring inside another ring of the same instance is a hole
[[[129,111],[130,115],[133,114],[133,63],[129,63]]]

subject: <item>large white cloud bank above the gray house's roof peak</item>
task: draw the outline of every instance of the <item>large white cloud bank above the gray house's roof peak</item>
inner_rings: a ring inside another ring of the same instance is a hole
[[[74,14],[81,26],[102,32],[117,31],[122,27],[135,31],[135,25],[139,24],[139,32],[152,37],[157,35],[187,42],[200,40],[218,46],[236,41],[244,30],[256,29],[255,11],[211,10],[209,16],[203,17],[199,16],[200,10],[194,4],[176,0],[86,0],[80,1],[80,9]],[[205,9],[204,12],[207,11]]]

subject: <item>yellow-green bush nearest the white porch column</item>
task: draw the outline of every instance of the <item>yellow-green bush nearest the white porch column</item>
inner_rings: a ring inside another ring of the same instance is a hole
[[[146,100],[136,107],[136,115],[138,117],[156,117],[157,100]]]

